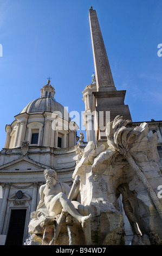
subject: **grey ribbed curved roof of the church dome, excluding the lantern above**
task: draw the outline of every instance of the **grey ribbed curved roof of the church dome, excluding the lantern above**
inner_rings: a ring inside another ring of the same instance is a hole
[[[42,113],[44,111],[48,112],[61,112],[62,117],[66,120],[69,120],[69,114],[66,108],[64,108],[59,102],[48,98],[48,97],[43,97],[39,98],[36,100],[33,100],[28,103],[26,107],[23,108],[23,110],[20,112],[21,113]]]

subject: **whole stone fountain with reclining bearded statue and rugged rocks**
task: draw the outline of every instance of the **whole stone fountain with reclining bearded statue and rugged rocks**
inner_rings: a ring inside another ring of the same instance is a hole
[[[88,142],[77,161],[72,188],[58,182],[54,170],[44,171],[46,184],[29,223],[32,240],[40,245],[124,245],[121,194],[132,244],[162,244],[157,137],[148,138],[146,123],[134,129],[129,123],[118,116],[107,125],[107,145]]]

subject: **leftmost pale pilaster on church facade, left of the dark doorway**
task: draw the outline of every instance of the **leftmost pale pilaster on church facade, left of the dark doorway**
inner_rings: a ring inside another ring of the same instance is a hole
[[[3,224],[4,224],[4,219],[5,219],[5,212],[7,210],[10,186],[11,185],[9,183],[5,184],[5,191],[4,191],[2,208],[1,208],[1,213],[0,213],[0,234],[2,234],[2,230],[3,230]]]

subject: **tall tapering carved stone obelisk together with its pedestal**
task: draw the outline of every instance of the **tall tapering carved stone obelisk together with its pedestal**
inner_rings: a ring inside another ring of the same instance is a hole
[[[109,112],[110,121],[117,115],[124,119],[132,120],[128,105],[125,105],[126,90],[116,90],[114,86],[111,68],[108,62],[105,44],[96,15],[96,11],[89,10],[90,32],[92,38],[94,68],[96,77],[96,92],[93,92],[93,111],[98,113],[95,127],[96,142],[106,139],[105,127],[107,125],[107,113]],[[100,126],[100,117],[102,115],[103,125]]]

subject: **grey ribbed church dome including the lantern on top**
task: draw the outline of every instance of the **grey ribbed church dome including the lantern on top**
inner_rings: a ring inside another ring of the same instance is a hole
[[[41,97],[28,103],[23,108],[21,113],[42,113],[42,112],[57,112],[62,114],[62,118],[70,120],[68,111],[59,102],[53,99],[54,88],[50,86],[50,81],[41,89]]]

